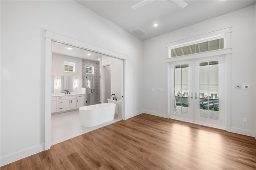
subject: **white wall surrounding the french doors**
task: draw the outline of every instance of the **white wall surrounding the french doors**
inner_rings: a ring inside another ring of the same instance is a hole
[[[168,117],[166,110],[166,43],[232,27],[231,33],[231,126],[228,131],[255,132],[255,6],[148,39],[144,45],[144,112]],[[250,84],[251,89],[235,89]],[[155,88],[156,91],[152,91]],[[164,88],[160,92],[159,88]],[[161,108],[158,108],[161,105]],[[248,118],[243,123],[242,118]]]

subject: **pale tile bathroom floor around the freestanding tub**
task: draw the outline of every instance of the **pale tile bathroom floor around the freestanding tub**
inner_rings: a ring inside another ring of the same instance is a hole
[[[51,144],[55,145],[57,143],[61,143],[73,137],[77,137],[120,120],[122,119],[115,117],[114,120],[98,126],[83,127],[81,125],[79,110],[52,115]]]

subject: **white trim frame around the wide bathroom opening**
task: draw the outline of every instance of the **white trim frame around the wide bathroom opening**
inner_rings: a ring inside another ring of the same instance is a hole
[[[44,115],[42,115],[42,142],[44,143],[44,150],[48,150],[51,147],[51,88],[52,88],[52,41],[57,41],[60,43],[64,43],[67,45],[72,45],[75,47],[80,47],[82,49],[95,51],[97,53],[101,53],[103,55],[108,55],[110,57],[114,57],[117,59],[123,60],[123,84],[122,84],[122,93],[123,93],[123,118],[125,119],[125,82],[126,82],[126,60],[127,56],[102,48],[98,47],[97,45],[92,45],[90,43],[86,43],[79,39],[74,39],[65,35],[61,35],[49,30],[45,30],[45,72],[44,72]]]

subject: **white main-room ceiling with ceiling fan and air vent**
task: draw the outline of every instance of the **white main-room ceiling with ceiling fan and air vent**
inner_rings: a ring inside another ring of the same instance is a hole
[[[183,9],[171,0],[154,0],[134,10],[132,6],[142,0],[76,0],[126,31],[139,27],[146,32],[138,37],[142,40],[255,4],[255,0],[183,1],[188,4]],[[154,27],[154,23],[158,26]]]

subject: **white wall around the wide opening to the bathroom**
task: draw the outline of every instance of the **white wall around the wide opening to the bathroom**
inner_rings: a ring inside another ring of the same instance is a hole
[[[141,40],[74,1],[0,3],[1,165],[44,150],[44,29],[128,56],[125,117],[142,113]]]

